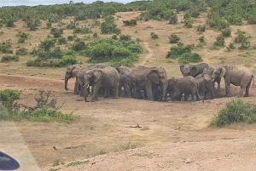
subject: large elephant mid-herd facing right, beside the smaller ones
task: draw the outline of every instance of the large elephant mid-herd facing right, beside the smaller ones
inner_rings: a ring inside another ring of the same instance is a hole
[[[168,86],[166,70],[162,67],[145,67],[137,66],[129,72],[134,77],[136,83],[136,91],[142,97],[141,90],[144,92],[144,99],[154,100],[153,83],[163,87],[162,98],[166,100],[166,88]]]

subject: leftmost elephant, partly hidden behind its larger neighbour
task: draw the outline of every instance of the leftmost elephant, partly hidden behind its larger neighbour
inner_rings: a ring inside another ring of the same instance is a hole
[[[79,70],[80,70],[81,67],[83,67],[83,66],[75,64],[73,66],[68,66],[67,70],[66,70],[65,89],[68,90],[68,88],[67,88],[68,79],[70,79],[72,77],[75,77],[76,78],[76,82],[75,82],[75,85],[74,85],[74,88],[73,88],[73,93],[74,94],[79,94],[79,89],[78,89],[78,83],[79,83],[78,82],[78,73],[79,73]]]

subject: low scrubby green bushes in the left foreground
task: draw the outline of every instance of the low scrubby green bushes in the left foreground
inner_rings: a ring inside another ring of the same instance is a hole
[[[20,121],[26,119],[36,122],[71,123],[77,117],[72,114],[63,114],[57,107],[57,99],[52,98],[50,91],[39,90],[34,97],[36,105],[23,105],[15,102],[20,100],[20,93],[13,89],[0,90],[0,120]]]

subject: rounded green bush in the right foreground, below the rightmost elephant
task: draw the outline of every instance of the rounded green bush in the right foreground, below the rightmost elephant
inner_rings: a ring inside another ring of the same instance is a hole
[[[210,125],[223,127],[231,123],[256,123],[256,105],[240,99],[231,100],[218,111]]]

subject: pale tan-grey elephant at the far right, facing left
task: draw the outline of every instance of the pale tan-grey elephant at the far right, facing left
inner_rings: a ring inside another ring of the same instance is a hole
[[[254,82],[253,72],[246,66],[218,66],[212,72],[212,81],[216,77],[224,77],[226,96],[230,96],[230,83],[235,86],[240,86],[239,97],[245,91],[244,97],[249,96],[249,88]]]

